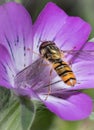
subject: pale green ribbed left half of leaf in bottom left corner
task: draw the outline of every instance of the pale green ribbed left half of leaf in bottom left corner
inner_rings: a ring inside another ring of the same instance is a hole
[[[0,112],[0,130],[22,130],[20,121],[20,104],[17,100]]]

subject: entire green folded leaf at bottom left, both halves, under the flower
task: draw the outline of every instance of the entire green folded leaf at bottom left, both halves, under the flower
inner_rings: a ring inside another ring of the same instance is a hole
[[[28,98],[19,100],[11,95],[7,106],[0,111],[0,130],[30,130],[34,115],[34,105]]]

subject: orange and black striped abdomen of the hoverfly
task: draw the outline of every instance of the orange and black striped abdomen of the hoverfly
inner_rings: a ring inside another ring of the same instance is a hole
[[[69,86],[74,86],[76,84],[76,78],[69,67],[69,65],[64,61],[59,61],[53,63],[53,68],[57,72],[57,74],[61,77],[61,79]]]

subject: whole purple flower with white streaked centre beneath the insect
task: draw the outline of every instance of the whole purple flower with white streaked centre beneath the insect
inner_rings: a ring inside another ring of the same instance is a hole
[[[0,6],[0,85],[13,90],[18,95],[42,101],[46,107],[65,120],[81,120],[92,111],[92,99],[81,89],[94,88],[94,62],[92,55],[68,53],[66,61],[72,61],[72,70],[77,84],[68,87],[57,82],[60,77],[51,67],[42,65],[39,55],[41,41],[54,41],[65,50],[94,50],[94,43],[86,42],[90,25],[79,17],[68,16],[54,3],[49,2],[38,16],[32,20],[25,8],[15,2]],[[91,56],[91,57],[90,57]],[[50,81],[51,80],[51,81]],[[57,83],[55,83],[57,82]],[[48,87],[51,93],[47,97]],[[45,98],[47,99],[45,100]]]

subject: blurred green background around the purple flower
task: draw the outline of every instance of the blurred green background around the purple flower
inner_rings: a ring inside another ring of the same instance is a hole
[[[0,4],[6,1],[22,3],[32,16],[33,22],[48,1],[56,3],[69,15],[80,16],[92,26],[90,38],[94,37],[94,0],[0,0]],[[86,90],[92,100],[94,90]],[[37,110],[36,118],[31,130],[94,130],[94,113],[82,121],[63,121],[41,106]]]

